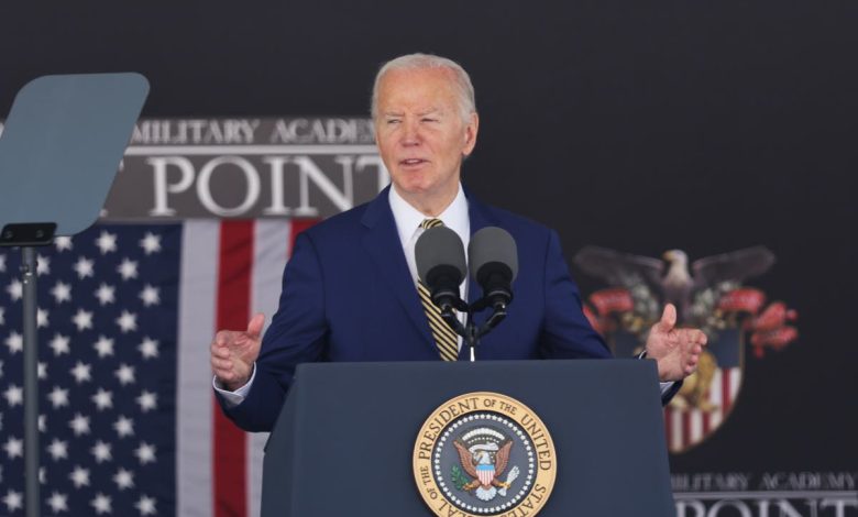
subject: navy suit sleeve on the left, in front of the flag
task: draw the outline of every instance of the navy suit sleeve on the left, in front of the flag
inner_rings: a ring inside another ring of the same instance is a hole
[[[298,363],[320,360],[328,323],[318,254],[307,233],[295,241],[283,275],[279,308],[262,340],[256,374],[244,402],[226,415],[246,431],[271,431]]]

